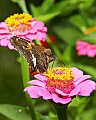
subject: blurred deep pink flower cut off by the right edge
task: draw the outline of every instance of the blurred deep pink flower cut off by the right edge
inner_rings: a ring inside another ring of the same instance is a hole
[[[78,40],[76,42],[76,50],[78,51],[78,55],[84,55],[88,57],[95,57],[96,56],[96,44],[91,44],[88,42],[83,42]]]

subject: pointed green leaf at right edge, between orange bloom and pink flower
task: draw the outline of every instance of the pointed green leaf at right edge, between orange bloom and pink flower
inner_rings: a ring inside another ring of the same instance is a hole
[[[93,32],[93,33],[87,34],[87,35],[83,35],[79,39],[82,41],[85,41],[85,42],[96,44],[96,32]]]

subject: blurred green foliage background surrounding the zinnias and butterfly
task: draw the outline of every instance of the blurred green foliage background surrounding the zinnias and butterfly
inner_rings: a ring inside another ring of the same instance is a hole
[[[69,67],[76,66],[84,70],[85,74],[92,75],[92,80],[96,81],[96,58],[78,56],[75,49],[76,40],[84,35],[86,29],[96,26],[96,0],[0,1],[0,22],[14,13],[22,12],[29,12],[33,17],[45,22],[48,27],[47,34],[56,38],[55,43],[49,42],[49,47],[61,62]],[[23,89],[19,53],[0,47],[0,104],[26,106]],[[68,108],[69,120],[95,120],[95,99],[96,92],[93,92],[91,97],[74,99]],[[39,99],[36,105],[37,111],[56,117],[54,108],[49,103]],[[0,114],[0,120],[9,118]]]

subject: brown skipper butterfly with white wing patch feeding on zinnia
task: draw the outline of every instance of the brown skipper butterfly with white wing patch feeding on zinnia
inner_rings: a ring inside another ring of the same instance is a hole
[[[55,59],[50,49],[34,42],[29,42],[17,36],[11,37],[10,41],[16,50],[26,58],[32,72],[45,72],[48,64]]]

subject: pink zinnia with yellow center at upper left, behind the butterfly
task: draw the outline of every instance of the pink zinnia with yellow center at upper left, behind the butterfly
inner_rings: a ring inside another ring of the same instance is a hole
[[[0,23],[0,46],[8,46],[9,49],[14,47],[10,43],[12,36],[18,36],[29,41],[38,39],[45,41],[47,27],[44,23],[37,21],[27,13],[14,14],[8,17],[5,22]]]

